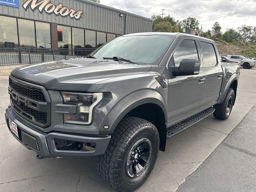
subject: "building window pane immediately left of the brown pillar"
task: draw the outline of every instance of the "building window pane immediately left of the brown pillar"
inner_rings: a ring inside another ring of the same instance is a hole
[[[50,24],[36,22],[36,46],[38,48],[51,48]]]

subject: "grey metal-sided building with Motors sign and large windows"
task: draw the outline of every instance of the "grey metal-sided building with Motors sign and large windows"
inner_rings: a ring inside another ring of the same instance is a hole
[[[152,20],[89,0],[0,0],[0,48],[97,48]]]

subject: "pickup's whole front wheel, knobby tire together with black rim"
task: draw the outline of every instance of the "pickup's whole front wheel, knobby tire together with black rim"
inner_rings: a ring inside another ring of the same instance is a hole
[[[136,190],[154,168],[159,143],[152,123],[136,117],[122,119],[105,154],[98,157],[100,177],[116,192]]]

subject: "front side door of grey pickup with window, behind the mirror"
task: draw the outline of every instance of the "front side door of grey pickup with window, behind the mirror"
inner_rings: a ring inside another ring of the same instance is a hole
[[[181,38],[172,54],[169,65],[179,66],[182,59],[200,61],[199,44],[196,38]],[[200,73],[187,76],[172,76],[168,79],[168,127],[200,112],[204,94],[205,71],[200,62]]]

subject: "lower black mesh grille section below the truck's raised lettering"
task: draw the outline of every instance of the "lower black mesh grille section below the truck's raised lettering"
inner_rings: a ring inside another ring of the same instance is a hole
[[[26,115],[27,118],[31,118],[34,117],[38,122],[41,122],[43,124],[47,123],[47,112],[39,112],[37,110],[34,110],[32,108],[29,108],[27,106],[25,106],[24,103],[18,103],[18,101],[14,100],[13,98],[11,98],[12,103],[14,104],[14,106],[18,109],[18,110],[22,110],[23,112],[25,112],[26,114],[24,114],[24,116]],[[30,117],[30,115],[32,117]]]

